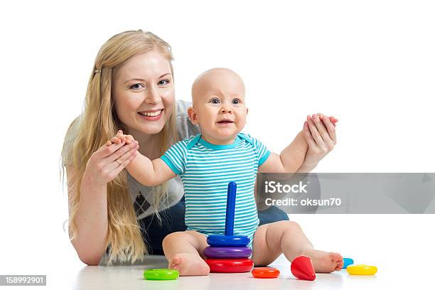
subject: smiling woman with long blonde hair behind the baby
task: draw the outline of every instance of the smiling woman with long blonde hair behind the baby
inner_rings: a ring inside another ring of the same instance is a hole
[[[186,230],[179,178],[149,188],[124,170],[138,150],[156,159],[179,139],[199,133],[188,120],[189,104],[175,100],[172,60],[168,43],[140,30],[113,36],[97,54],[85,107],[70,124],[62,151],[68,233],[85,264],[99,264],[106,252],[108,264],[163,254],[163,238]],[[106,144],[119,129],[136,141]],[[294,142],[304,139],[302,134]],[[327,143],[310,154],[314,159],[308,171],[331,151]],[[300,154],[304,160],[305,151]],[[288,217],[272,207],[259,211],[259,220],[264,224]]]

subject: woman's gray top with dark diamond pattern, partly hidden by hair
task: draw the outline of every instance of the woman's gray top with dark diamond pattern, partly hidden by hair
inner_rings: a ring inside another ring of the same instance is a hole
[[[199,127],[190,123],[190,120],[188,119],[188,107],[190,107],[189,102],[183,100],[177,101],[176,127],[178,131],[178,136],[180,136],[181,139],[200,133]],[[77,136],[79,122],[80,116],[73,121],[73,124],[71,124],[70,129],[68,129],[67,134],[65,135],[63,154],[64,166],[70,163],[70,151],[73,147],[75,136]],[[134,204],[134,210],[136,211],[136,216],[138,220],[153,214],[155,210],[153,205],[153,198],[151,196],[152,187],[143,186],[141,183],[137,182],[128,172],[127,183],[129,186],[131,203]],[[183,197],[183,194],[183,183],[181,182],[181,178],[176,176],[176,178],[173,178],[171,179],[171,181],[169,181],[168,200],[164,204],[159,205],[159,211],[178,203],[178,201]]]

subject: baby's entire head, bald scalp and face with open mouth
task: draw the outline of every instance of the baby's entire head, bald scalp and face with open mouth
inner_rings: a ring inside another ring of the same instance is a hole
[[[200,75],[192,88],[188,113],[205,141],[231,144],[246,124],[245,85],[232,70],[216,68]]]

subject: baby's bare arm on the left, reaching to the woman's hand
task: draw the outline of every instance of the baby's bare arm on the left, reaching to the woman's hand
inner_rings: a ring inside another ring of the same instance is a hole
[[[107,141],[107,146],[112,143],[126,141],[127,144],[134,141],[133,136],[124,135],[122,131],[118,131],[117,136]],[[136,157],[127,165],[127,171],[133,176],[136,181],[144,186],[158,186],[159,184],[176,177],[169,166],[161,159],[151,161],[148,157],[137,151]]]

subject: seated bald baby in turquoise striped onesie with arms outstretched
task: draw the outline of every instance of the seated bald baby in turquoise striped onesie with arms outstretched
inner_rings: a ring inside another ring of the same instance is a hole
[[[173,232],[163,240],[168,267],[177,269],[181,276],[210,272],[203,260],[203,249],[208,247],[207,235],[222,235],[225,230],[227,185],[234,181],[237,183],[234,235],[249,237],[255,266],[270,264],[284,253],[289,261],[301,254],[311,257],[316,272],[341,269],[343,257],[313,249],[296,222],[286,220],[258,226],[254,199],[257,172],[295,172],[298,169],[295,164],[302,163],[305,153],[300,156],[301,151],[295,152],[290,145],[281,155],[274,154],[259,140],[240,133],[248,109],[245,85],[239,75],[225,68],[206,71],[193,83],[192,99],[188,116],[193,124],[199,124],[201,134],[179,141],[153,161],[138,152],[127,166],[131,176],[145,186],[181,176],[188,229]],[[125,135],[117,134],[117,138],[125,139]]]

